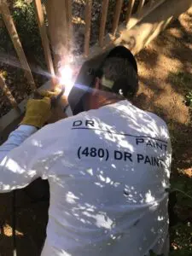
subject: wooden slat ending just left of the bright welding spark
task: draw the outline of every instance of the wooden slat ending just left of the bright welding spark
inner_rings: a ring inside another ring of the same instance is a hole
[[[41,35],[43,48],[44,48],[44,57],[48,67],[48,71],[51,74],[52,83],[54,83],[55,70],[54,70],[51,52],[49,48],[49,39],[47,36],[46,26],[44,23],[44,11],[42,8],[41,0],[34,0],[34,2],[35,2],[37,19],[38,19],[38,28]]]

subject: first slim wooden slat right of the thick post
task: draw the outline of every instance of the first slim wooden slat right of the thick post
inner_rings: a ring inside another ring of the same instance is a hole
[[[85,33],[84,33],[84,55],[90,52],[90,24],[91,24],[92,0],[86,0],[85,6]]]

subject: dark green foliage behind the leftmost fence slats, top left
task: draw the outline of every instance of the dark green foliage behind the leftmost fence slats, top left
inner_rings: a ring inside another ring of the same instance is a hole
[[[26,56],[32,58],[32,62],[38,62],[38,65],[43,63],[41,66],[44,67],[44,52],[33,2],[31,0],[15,0],[13,8],[10,9]],[[15,54],[5,26],[0,28],[0,33],[0,50],[8,54]]]

